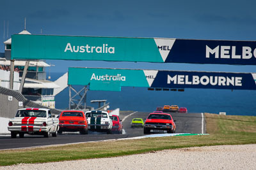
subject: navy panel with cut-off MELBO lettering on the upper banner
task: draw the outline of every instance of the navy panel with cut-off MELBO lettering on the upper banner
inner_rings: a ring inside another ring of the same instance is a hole
[[[176,39],[164,62],[255,65],[256,42]]]

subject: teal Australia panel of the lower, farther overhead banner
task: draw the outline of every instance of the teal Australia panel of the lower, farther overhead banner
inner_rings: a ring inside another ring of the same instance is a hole
[[[120,91],[120,87],[148,87],[143,70],[68,68],[68,85],[90,85],[90,90]]]

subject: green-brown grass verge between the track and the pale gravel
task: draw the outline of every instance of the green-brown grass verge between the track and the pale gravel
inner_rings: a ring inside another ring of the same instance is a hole
[[[211,135],[145,138],[48,148],[4,150],[0,152],[0,166],[115,157],[192,146],[256,143],[256,117],[223,116],[209,113],[205,113],[205,117],[207,133]]]

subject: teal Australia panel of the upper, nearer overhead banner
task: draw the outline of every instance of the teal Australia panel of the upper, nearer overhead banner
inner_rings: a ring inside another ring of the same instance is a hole
[[[12,36],[12,59],[163,62],[153,38]]]

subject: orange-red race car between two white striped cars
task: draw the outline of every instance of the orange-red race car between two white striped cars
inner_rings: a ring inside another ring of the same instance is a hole
[[[62,111],[59,121],[59,134],[62,132],[80,132],[80,134],[88,134],[88,124],[83,111]]]

